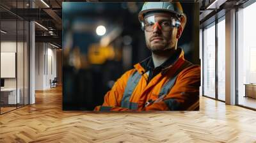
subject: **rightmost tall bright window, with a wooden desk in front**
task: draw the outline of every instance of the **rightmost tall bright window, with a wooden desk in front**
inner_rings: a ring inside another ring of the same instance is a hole
[[[237,11],[237,100],[239,105],[253,109],[256,109],[255,13],[256,3]]]

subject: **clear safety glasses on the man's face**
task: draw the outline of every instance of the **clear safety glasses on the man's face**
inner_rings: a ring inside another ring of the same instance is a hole
[[[147,32],[152,32],[156,27],[161,31],[172,31],[173,27],[179,26],[179,20],[173,17],[156,21],[156,15],[145,17],[144,21],[141,22],[141,28]]]

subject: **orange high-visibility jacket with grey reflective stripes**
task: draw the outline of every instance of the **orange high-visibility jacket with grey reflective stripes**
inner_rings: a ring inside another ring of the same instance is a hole
[[[95,111],[198,110],[200,66],[180,52],[177,60],[147,84],[148,72],[140,63],[125,72]],[[157,102],[156,102],[157,101]]]

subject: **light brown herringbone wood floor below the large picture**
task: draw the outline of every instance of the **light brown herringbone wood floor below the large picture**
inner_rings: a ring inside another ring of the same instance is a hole
[[[200,98],[198,112],[63,112],[61,88],[0,116],[0,142],[256,142],[256,112]]]

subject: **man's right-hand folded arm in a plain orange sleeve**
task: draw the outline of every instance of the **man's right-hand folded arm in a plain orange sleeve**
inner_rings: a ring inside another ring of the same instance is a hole
[[[198,110],[200,67],[187,68],[161,102],[153,103],[145,110]]]

